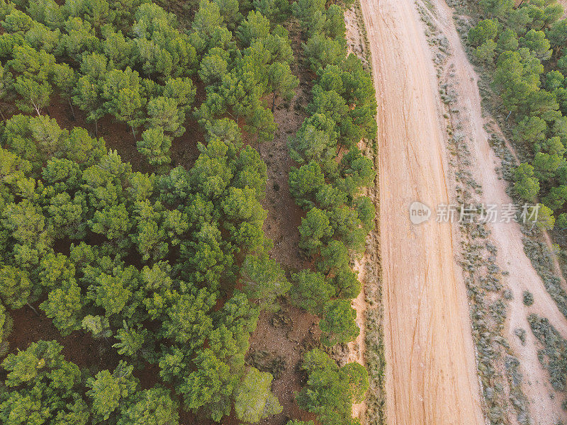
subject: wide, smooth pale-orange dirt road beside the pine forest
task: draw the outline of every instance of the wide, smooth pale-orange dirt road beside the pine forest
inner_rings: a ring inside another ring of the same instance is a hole
[[[361,0],[378,101],[390,425],[483,424],[451,226],[412,225],[413,201],[449,201],[437,81],[412,0]]]

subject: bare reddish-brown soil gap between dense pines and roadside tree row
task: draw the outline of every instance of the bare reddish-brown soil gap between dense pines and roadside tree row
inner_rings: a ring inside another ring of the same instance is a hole
[[[295,203],[289,192],[288,177],[293,161],[288,153],[288,137],[296,134],[307,116],[307,107],[313,74],[307,71],[301,48],[301,34],[298,26],[293,23],[286,25],[292,42],[293,62],[292,71],[300,85],[291,101],[276,99],[274,120],[278,125],[274,140],[264,142],[260,146],[260,154],[266,163],[268,179],[266,183],[266,198],[263,206],[268,216],[264,222],[264,234],[274,241],[270,257],[275,259],[290,273],[309,268],[310,262],[305,259],[300,249],[298,226],[305,213]],[[269,99],[271,103],[271,98]],[[257,147],[255,143],[252,146]],[[315,416],[299,409],[295,395],[305,382],[300,365],[303,353],[314,348],[318,341],[318,318],[304,310],[288,305],[281,301],[281,310],[277,312],[264,311],[260,314],[256,331],[250,336],[250,348],[247,353],[249,364],[265,371],[271,370],[274,361],[282,363],[280,373],[274,374],[272,391],[278,397],[283,407],[281,414],[260,421],[260,425],[285,425],[290,418],[313,420]],[[256,360],[254,360],[256,359]],[[237,419],[231,415],[230,419]],[[232,424],[232,421],[223,421]]]

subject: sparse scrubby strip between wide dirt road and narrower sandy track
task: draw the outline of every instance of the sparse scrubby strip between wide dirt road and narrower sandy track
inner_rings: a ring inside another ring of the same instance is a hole
[[[447,150],[449,164],[456,181],[456,203],[480,205],[481,186],[471,174],[469,140],[463,131],[454,84],[454,68],[448,65],[451,56],[449,40],[437,28],[432,5],[417,8],[427,26],[426,34],[434,49],[434,62],[439,80],[439,96],[446,107]],[[478,210],[477,214],[480,213]],[[461,268],[467,287],[473,341],[476,347],[478,375],[481,380],[485,417],[490,424],[507,422],[510,408],[515,409],[517,421],[529,424],[527,400],[522,392],[522,375],[517,372],[517,358],[510,351],[503,327],[507,314],[509,291],[502,281],[505,271],[495,263],[497,248],[489,239],[485,223],[478,215],[471,222],[461,222]]]

